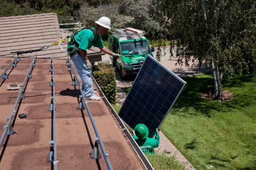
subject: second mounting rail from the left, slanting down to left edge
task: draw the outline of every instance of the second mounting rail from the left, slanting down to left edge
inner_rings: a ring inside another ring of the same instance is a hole
[[[26,81],[27,81],[27,79],[28,79],[28,77],[29,77],[29,75],[30,75],[30,73],[31,73],[30,70],[31,70],[31,68],[34,66],[35,61],[36,61],[36,54],[35,54],[35,57],[34,57],[33,60],[32,60],[32,63],[30,64],[29,69],[27,69],[27,74],[26,74],[26,77],[25,77],[25,79],[24,79],[24,81],[23,81],[23,84],[20,86],[20,92],[19,92],[19,94],[18,94],[18,96],[17,96],[17,100],[16,100],[15,105],[14,105],[14,107],[13,107],[13,109],[12,109],[11,115],[6,117],[6,118],[8,119],[8,121],[7,121],[6,125],[3,127],[4,130],[3,130],[3,134],[2,134],[1,139],[0,139],[0,149],[1,149],[1,147],[3,146],[3,142],[5,141],[5,138],[6,138],[6,136],[7,136],[7,133],[8,133],[8,130],[9,130],[10,126],[12,126],[12,125],[11,125],[11,124],[12,124],[12,119],[13,119],[14,116],[15,116],[15,112],[16,112],[16,109],[17,109],[17,104],[18,104],[18,102],[20,101],[20,99],[23,98],[21,94],[24,95],[24,93],[23,93],[23,86],[24,86],[24,84],[26,83]]]

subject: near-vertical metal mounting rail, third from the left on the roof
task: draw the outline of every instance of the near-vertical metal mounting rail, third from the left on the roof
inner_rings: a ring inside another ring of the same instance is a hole
[[[54,78],[54,64],[53,64],[53,56],[52,56],[52,104],[53,104],[53,141],[49,141],[50,144],[53,144],[53,161],[52,164],[54,165],[54,170],[57,170],[57,148],[56,148],[56,116],[55,116],[55,78]]]

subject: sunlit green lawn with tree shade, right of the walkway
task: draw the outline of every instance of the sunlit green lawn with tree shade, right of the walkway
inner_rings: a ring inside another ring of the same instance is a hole
[[[253,75],[222,81],[229,102],[200,96],[213,88],[211,73],[183,78],[183,92],[160,130],[197,170],[256,169],[256,85]]]

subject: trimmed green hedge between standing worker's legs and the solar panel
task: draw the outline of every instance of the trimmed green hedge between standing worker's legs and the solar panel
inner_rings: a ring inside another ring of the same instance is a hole
[[[109,61],[93,64],[93,78],[111,104],[116,104],[116,73]]]

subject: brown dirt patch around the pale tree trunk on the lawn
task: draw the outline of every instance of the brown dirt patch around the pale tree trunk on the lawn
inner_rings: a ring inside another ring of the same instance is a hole
[[[221,90],[222,100],[221,101],[230,101],[235,95],[232,92],[227,90]],[[218,98],[214,95],[214,90],[205,91],[201,93],[201,97],[208,100],[218,100]]]

